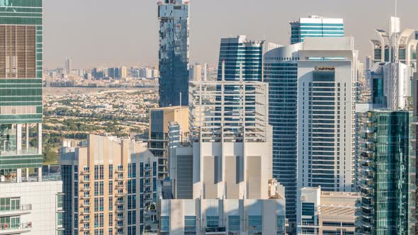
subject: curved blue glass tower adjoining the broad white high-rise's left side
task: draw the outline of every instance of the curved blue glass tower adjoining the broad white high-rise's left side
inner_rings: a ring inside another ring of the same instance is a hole
[[[286,189],[289,230],[296,229],[298,59],[302,43],[278,47],[264,55],[269,83],[269,124],[273,126],[273,178]]]

